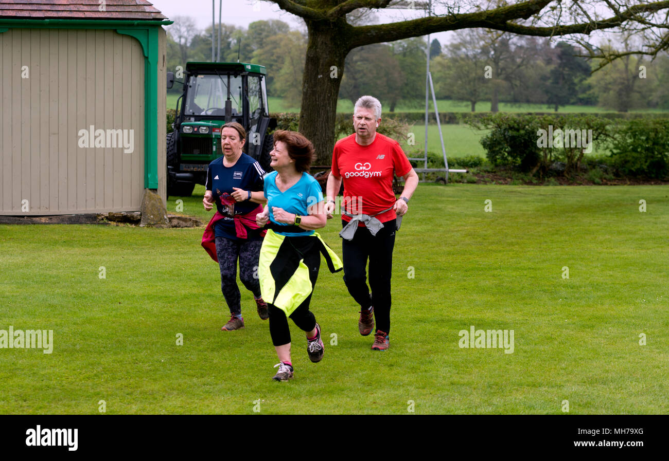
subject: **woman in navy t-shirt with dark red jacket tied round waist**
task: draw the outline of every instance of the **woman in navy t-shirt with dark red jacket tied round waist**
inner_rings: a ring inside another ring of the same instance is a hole
[[[232,331],[244,328],[240,289],[237,287],[237,259],[240,263],[240,280],[254,294],[258,315],[268,319],[267,304],[260,293],[256,275],[262,235],[255,222],[262,211],[264,171],[260,164],[242,152],[246,130],[237,122],[221,127],[223,156],[209,164],[205,196],[205,210],[216,205],[213,218],[216,256],[221,269],[221,291],[230,309],[230,319],[221,328]],[[210,223],[211,224],[211,223]]]

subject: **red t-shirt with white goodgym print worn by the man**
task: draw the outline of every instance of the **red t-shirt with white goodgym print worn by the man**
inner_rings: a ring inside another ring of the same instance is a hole
[[[342,208],[350,214],[377,214],[395,204],[393,174],[405,176],[411,171],[399,142],[377,133],[368,146],[355,142],[355,133],[334,144],[332,174],[344,181]],[[343,219],[351,218],[343,214]],[[395,210],[375,216],[386,222],[397,217]],[[360,222],[361,226],[364,226]]]

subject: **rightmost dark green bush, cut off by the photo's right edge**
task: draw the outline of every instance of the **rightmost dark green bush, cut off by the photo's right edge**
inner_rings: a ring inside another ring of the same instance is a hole
[[[611,158],[625,176],[666,177],[669,173],[669,119],[630,120],[617,126]]]

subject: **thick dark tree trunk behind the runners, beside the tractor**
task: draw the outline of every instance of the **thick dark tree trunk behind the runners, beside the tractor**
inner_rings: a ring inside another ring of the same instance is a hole
[[[298,129],[314,144],[314,164],[330,165],[335,142],[339,85],[344,73],[344,60],[349,52],[347,34],[339,23],[305,22],[309,41],[302,77],[302,107]]]

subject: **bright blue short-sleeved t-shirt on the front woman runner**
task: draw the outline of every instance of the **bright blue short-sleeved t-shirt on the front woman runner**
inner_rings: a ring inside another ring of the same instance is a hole
[[[280,226],[290,225],[282,224],[274,220],[274,213],[272,213],[272,206],[283,208],[289,213],[299,214],[300,216],[307,216],[310,206],[323,201],[323,192],[320,189],[318,181],[314,179],[307,172],[302,172],[302,178],[293,186],[290,186],[285,192],[281,192],[276,187],[276,175],[278,172],[273,171],[265,177],[265,197],[267,198],[267,206],[270,208],[270,220]],[[279,235],[286,237],[296,237],[300,235],[313,235],[314,231],[291,233],[291,232],[277,232]]]

